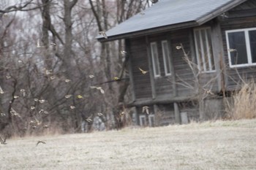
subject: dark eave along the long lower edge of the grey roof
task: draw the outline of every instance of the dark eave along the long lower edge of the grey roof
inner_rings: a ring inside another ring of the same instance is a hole
[[[127,38],[133,38],[133,37],[138,37],[138,36],[146,36],[148,34],[157,34],[160,32],[164,31],[170,31],[170,30],[177,30],[177,29],[182,29],[182,28],[190,28],[194,26],[199,26],[196,21],[190,21],[186,23],[178,23],[170,26],[162,26],[162,27],[157,27],[157,28],[150,28],[146,29],[143,31],[136,31],[136,32],[131,32],[127,34],[118,34],[114,36],[108,36],[108,39],[105,39],[103,37],[97,38],[99,42],[110,42],[113,40],[118,40],[118,39],[127,39]]]

